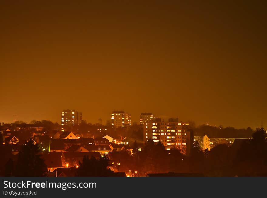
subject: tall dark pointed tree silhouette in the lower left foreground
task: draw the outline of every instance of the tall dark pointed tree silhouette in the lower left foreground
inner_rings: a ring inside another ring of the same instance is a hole
[[[29,139],[22,145],[18,154],[15,176],[43,176],[46,171],[39,144],[34,144],[34,141]]]

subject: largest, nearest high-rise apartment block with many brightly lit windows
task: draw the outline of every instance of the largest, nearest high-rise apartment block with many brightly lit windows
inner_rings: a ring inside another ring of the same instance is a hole
[[[166,121],[155,118],[144,122],[144,141],[152,139],[153,142],[163,143],[166,150],[179,149],[181,153],[190,155],[194,136],[189,131],[189,124],[178,122],[178,118]]]

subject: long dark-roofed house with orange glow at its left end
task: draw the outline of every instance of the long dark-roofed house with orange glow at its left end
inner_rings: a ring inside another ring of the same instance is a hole
[[[79,161],[83,161],[83,156],[96,159],[101,157],[99,152],[66,152],[63,153],[62,162],[65,167],[76,167],[79,166]]]

